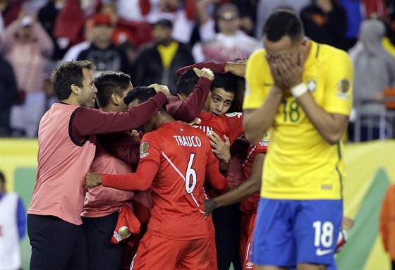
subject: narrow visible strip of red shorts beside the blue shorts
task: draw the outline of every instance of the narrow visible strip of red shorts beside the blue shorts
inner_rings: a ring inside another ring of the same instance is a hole
[[[240,226],[240,256],[243,270],[255,270],[251,262],[251,247],[253,243],[253,233],[257,212],[252,214],[243,214]]]

